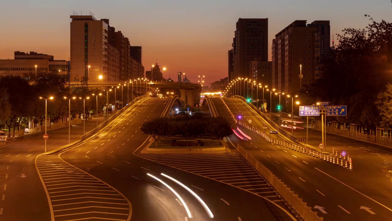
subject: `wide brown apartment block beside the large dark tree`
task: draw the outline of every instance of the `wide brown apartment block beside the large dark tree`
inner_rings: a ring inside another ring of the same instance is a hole
[[[272,87],[299,92],[320,77],[320,61],[329,51],[329,21],[295,20],[272,40]]]

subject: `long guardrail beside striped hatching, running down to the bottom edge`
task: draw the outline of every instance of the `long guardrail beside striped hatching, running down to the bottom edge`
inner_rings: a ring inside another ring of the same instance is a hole
[[[290,188],[285,185],[278,177],[276,177],[268,168],[266,168],[260,161],[256,160],[252,155],[249,155],[247,151],[240,145],[237,146],[238,152],[249,161],[254,168],[257,169],[267,179],[270,184],[276,189],[275,192],[282,199],[292,213],[298,214],[297,217],[301,216],[306,221],[323,221],[323,217],[319,217],[317,212],[313,212],[307,203],[303,202],[301,198],[298,197]]]

